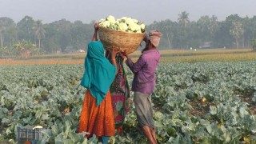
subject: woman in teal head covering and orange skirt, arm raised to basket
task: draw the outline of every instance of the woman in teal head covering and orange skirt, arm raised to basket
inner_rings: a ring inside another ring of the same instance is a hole
[[[113,49],[111,62],[104,55],[102,42],[97,40],[98,23],[94,25],[93,42],[88,44],[85,58],[85,73],[81,85],[86,87],[86,94],[82,106],[78,132],[86,132],[86,138],[95,134],[107,143],[114,135],[114,114],[110,95],[110,85],[117,73],[115,56],[117,50]]]

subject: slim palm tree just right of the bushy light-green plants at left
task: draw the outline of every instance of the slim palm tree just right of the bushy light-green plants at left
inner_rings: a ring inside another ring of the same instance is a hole
[[[46,30],[44,30],[43,25],[42,25],[42,21],[38,20],[37,22],[35,22],[35,26],[33,27],[34,30],[34,34],[36,35],[36,37],[38,38],[38,47],[39,50],[41,48],[41,39],[45,38],[45,33]]]

